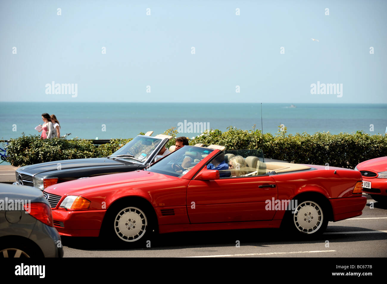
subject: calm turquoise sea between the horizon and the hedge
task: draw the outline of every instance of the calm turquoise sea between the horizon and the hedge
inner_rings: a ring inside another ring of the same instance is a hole
[[[385,134],[387,128],[387,104],[4,102],[1,106],[1,140],[22,133],[40,135],[34,128],[43,124],[42,113],[57,116],[60,134],[71,133],[67,139],[131,138],[171,127],[189,138],[206,129],[226,131],[228,127],[263,128],[273,135],[280,125],[291,134],[358,130]]]

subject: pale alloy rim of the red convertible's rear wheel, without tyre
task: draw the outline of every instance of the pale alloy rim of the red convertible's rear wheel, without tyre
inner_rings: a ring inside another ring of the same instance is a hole
[[[298,205],[293,221],[301,233],[313,234],[317,232],[324,221],[322,208],[317,202],[304,201]]]

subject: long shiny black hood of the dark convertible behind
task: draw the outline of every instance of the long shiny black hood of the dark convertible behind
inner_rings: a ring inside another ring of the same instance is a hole
[[[129,163],[126,162],[125,163]],[[112,160],[108,158],[88,158],[88,159],[74,159],[53,161],[41,164],[34,164],[17,169],[17,171],[26,172],[32,175],[44,173],[47,171],[55,171],[58,169],[73,169],[73,168],[89,168],[89,167],[106,167],[106,166],[120,166],[123,161]],[[129,163],[130,164],[130,163]],[[135,163],[134,163],[135,164]]]

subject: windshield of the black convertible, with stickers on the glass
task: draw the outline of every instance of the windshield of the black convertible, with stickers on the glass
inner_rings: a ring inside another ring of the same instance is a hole
[[[137,136],[125,146],[111,154],[109,158],[128,159],[134,163],[143,163],[161,143],[162,139]]]

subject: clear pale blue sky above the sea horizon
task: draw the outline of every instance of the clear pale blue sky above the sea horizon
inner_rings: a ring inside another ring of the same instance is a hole
[[[386,8],[386,1],[1,1],[0,100],[387,103]],[[46,94],[52,81],[77,84],[77,96]],[[318,81],[342,84],[342,97],[311,94]]]

